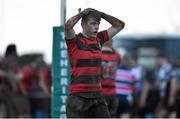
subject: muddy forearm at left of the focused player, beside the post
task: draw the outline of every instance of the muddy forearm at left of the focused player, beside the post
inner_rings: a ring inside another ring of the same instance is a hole
[[[75,24],[81,19],[81,17],[83,16],[83,13],[79,13],[73,17],[71,17],[66,23],[65,23],[65,29],[69,30],[69,29],[73,29],[73,27],[75,26]]]

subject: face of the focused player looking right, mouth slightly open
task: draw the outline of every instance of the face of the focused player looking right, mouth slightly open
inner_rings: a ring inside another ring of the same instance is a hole
[[[83,34],[89,39],[95,39],[99,30],[100,22],[90,18],[86,23],[82,23]]]

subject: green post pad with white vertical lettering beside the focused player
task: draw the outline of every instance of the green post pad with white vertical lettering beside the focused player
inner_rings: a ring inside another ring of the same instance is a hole
[[[70,64],[64,27],[53,27],[52,58],[52,118],[66,118],[66,99],[69,94]]]

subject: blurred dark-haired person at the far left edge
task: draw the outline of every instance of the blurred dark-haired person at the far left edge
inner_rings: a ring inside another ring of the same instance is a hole
[[[6,106],[6,117],[28,117],[22,93],[21,79],[23,77],[18,66],[18,54],[15,44],[7,46],[5,57],[0,62],[0,94]]]

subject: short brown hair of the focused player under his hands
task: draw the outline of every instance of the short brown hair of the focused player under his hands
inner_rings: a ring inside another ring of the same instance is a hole
[[[82,22],[87,23],[87,21],[93,18],[96,21],[101,21],[101,15],[98,11],[90,11],[87,15],[82,17]]]

